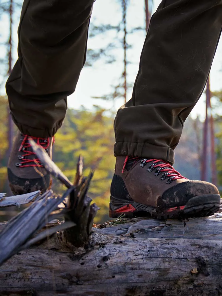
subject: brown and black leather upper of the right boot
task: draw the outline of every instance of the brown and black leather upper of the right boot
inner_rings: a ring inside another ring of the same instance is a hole
[[[219,194],[216,186],[203,181],[181,178],[167,184],[167,179],[160,179],[163,173],[155,176],[155,170],[151,172],[147,170],[149,165],[141,167],[141,159],[136,160],[129,170],[125,168],[121,173],[125,158],[125,156],[117,157],[115,174],[123,179],[130,198],[135,202],[157,207],[157,201],[161,200],[170,207],[184,205],[187,200],[197,195]]]

